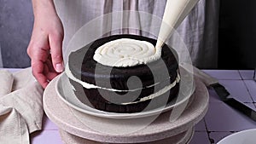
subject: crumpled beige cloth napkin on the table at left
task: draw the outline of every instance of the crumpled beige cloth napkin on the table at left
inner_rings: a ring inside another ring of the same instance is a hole
[[[31,67],[11,73],[0,70],[0,141],[29,144],[29,134],[41,130],[44,89]]]

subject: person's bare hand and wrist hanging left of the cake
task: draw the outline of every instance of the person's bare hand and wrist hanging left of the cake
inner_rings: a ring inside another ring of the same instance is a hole
[[[34,1],[33,10],[34,25],[27,54],[31,58],[33,76],[45,88],[50,80],[63,71],[64,32],[51,0],[48,3]]]

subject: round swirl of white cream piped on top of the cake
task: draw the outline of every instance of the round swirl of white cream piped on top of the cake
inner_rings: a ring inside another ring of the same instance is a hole
[[[137,66],[158,60],[161,49],[152,43],[131,38],[120,38],[103,44],[95,51],[93,59],[106,66]]]

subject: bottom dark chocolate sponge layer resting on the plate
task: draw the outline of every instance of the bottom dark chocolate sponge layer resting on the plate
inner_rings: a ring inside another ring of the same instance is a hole
[[[79,101],[89,107],[105,112],[131,113],[148,111],[158,107],[165,107],[166,104],[177,98],[179,91],[179,84],[177,84],[172,89],[166,91],[166,93],[159,95],[152,100],[122,105],[106,101],[106,99],[99,94],[97,89],[84,89],[79,83],[74,82],[73,80],[70,80],[70,82],[76,88],[74,93],[77,95]],[[108,92],[110,91],[106,91],[106,94],[111,95],[108,94]]]

